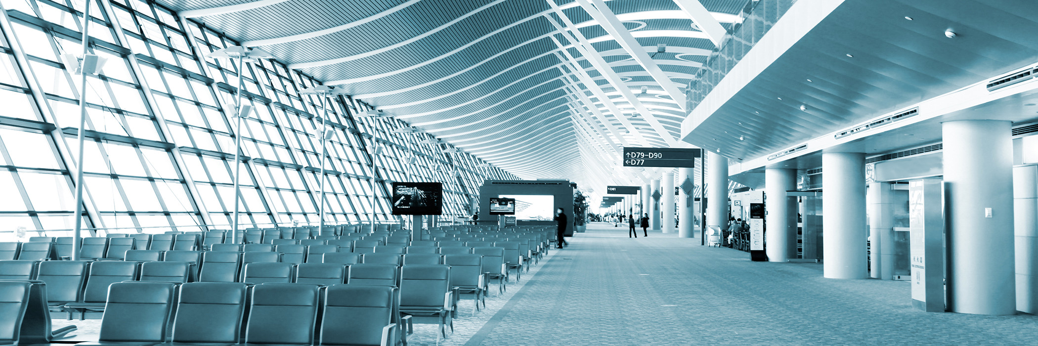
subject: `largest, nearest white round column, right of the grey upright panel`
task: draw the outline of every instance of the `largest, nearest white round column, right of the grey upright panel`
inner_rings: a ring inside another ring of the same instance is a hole
[[[1010,126],[1003,121],[941,123],[948,305],[956,313],[1016,313],[1009,265],[1015,260]]]

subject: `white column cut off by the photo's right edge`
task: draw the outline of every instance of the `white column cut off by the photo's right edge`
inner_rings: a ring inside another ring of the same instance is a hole
[[[1038,312],[1038,165],[1013,168],[1016,310]]]

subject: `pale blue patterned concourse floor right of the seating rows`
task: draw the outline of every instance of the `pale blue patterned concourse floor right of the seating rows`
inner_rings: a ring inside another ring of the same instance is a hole
[[[827,280],[820,264],[626,233],[592,224],[487,310],[468,316],[463,301],[449,338],[416,325],[412,345],[1038,345],[1033,315],[923,313],[906,282]]]

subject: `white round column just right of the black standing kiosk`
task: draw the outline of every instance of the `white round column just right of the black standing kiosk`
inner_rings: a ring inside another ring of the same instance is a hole
[[[789,223],[790,208],[786,191],[796,189],[796,169],[767,168],[764,170],[765,250],[768,262],[786,262],[796,256],[796,223]]]

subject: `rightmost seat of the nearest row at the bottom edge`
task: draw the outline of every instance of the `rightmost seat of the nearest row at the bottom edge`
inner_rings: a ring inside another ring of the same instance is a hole
[[[393,323],[395,298],[397,290],[386,286],[329,286],[320,345],[394,345],[399,340]]]

